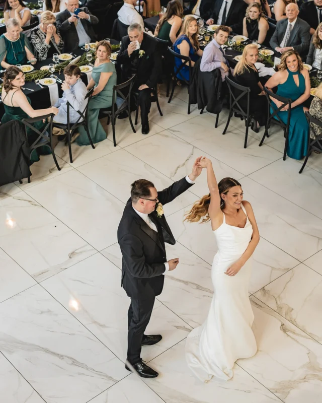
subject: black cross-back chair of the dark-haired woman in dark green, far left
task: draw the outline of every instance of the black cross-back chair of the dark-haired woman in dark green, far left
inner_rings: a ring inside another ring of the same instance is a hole
[[[34,150],[36,150],[39,147],[46,146],[51,150],[52,158],[54,159],[54,162],[56,164],[58,171],[60,171],[60,166],[58,165],[58,162],[57,162],[57,159],[55,156],[55,152],[54,152],[54,148],[52,147],[52,125],[53,125],[52,120],[53,120],[54,116],[55,115],[53,113],[50,113],[48,115],[25,118],[25,119],[22,119],[22,122],[24,123],[24,126],[25,126],[25,135],[26,135],[27,139],[28,139],[27,127],[32,129],[38,135],[37,139],[30,146],[30,158],[31,158],[31,154],[33,153]],[[50,118],[50,119],[48,120],[48,118]],[[42,121],[44,119],[45,119],[45,122],[47,122],[47,123],[43,127],[42,131],[40,131],[33,125],[33,123]],[[20,183],[22,183],[22,182],[20,181]],[[30,176],[28,176],[28,183],[30,183]]]

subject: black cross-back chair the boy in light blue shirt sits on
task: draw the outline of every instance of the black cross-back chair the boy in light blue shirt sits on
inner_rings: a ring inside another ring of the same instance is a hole
[[[93,144],[90,132],[89,132],[89,104],[91,102],[91,98],[94,92],[94,88],[92,88],[86,95],[85,99],[88,99],[87,105],[84,109],[83,112],[76,110],[76,112],[78,113],[79,117],[76,120],[75,123],[71,123],[70,122],[70,117],[69,117],[69,110],[70,108],[72,108],[72,106],[70,105],[69,102],[67,102],[67,124],[65,123],[56,123],[53,122],[53,127],[57,127],[59,129],[64,130],[65,134],[66,134],[66,138],[67,138],[67,142],[68,142],[68,151],[69,151],[69,161],[70,163],[72,163],[72,153],[71,153],[71,138],[73,133],[78,129],[78,127],[84,126],[86,132],[87,132],[87,136],[89,138],[89,142],[92,146],[92,148],[95,149],[95,146]],[[74,109],[74,108],[73,108]],[[74,109],[75,110],[75,109]],[[83,119],[81,121],[81,119]]]

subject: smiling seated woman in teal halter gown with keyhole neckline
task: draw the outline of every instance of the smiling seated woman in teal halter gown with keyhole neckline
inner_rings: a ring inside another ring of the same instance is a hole
[[[277,95],[292,100],[290,125],[288,131],[287,155],[296,160],[302,159],[307,153],[309,126],[304,112],[308,111],[302,104],[310,96],[309,74],[303,67],[299,54],[291,49],[282,54],[280,71],[275,73],[266,87],[272,89],[277,86]],[[276,109],[282,105],[274,99]],[[287,123],[287,110],[278,112],[278,116]]]

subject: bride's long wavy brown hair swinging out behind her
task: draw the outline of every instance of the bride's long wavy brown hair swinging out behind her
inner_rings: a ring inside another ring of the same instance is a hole
[[[220,209],[223,210],[225,208],[225,200],[221,197],[221,194],[227,194],[229,189],[233,186],[241,186],[241,184],[232,178],[223,178],[218,183],[218,189],[220,194]],[[190,223],[198,223],[202,218],[200,224],[206,223],[210,220],[209,217],[209,205],[210,205],[210,193],[202,196],[200,200],[196,201],[196,203],[192,206],[190,212],[185,214],[184,221],[189,221]]]

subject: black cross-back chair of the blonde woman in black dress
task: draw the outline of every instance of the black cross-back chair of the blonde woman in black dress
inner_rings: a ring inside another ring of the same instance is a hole
[[[226,133],[226,130],[229,126],[230,119],[233,115],[233,113],[238,113],[241,115],[241,117],[245,120],[245,125],[246,125],[246,132],[245,132],[245,143],[244,143],[244,148],[247,147],[247,139],[248,139],[248,130],[250,126],[251,119],[253,118],[253,115],[250,113],[250,94],[251,94],[251,89],[249,87],[244,87],[243,85],[239,85],[229,79],[228,77],[225,78],[225,81],[227,83],[227,87],[229,90],[229,114],[228,114],[228,119],[226,123],[226,127],[224,128],[222,134],[224,135]],[[236,95],[234,93],[234,90],[236,90]],[[241,98],[247,97],[247,107],[246,107],[246,112],[245,109],[243,109],[238,101],[241,100]],[[217,115],[218,117],[218,115]]]

